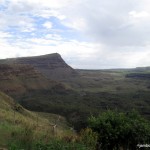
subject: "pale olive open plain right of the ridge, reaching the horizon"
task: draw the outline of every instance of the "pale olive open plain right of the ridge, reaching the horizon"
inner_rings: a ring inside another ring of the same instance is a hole
[[[79,76],[64,80],[77,91],[88,92],[130,92],[149,91],[150,79],[127,78],[131,73],[148,74],[149,70],[139,71],[136,69],[122,70],[78,70]]]

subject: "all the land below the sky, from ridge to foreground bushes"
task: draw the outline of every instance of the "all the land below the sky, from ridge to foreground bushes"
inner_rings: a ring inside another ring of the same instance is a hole
[[[75,70],[59,54],[0,63],[0,91],[15,100],[0,93],[0,146],[134,150],[138,142],[149,144],[142,117],[150,120],[150,67]],[[91,115],[97,117],[89,124]]]

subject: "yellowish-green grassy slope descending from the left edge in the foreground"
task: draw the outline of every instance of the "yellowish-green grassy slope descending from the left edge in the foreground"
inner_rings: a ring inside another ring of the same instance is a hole
[[[24,109],[21,105],[14,102],[12,98],[0,92],[0,147],[5,147],[11,140],[14,132],[21,131],[23,128],[31,127],[34,138],[38,139],[42,135],[49,133],[53,137],[52,125],[58,115],[35,113]],[[69,127],[65,118],[59,117],[57,136],[69,134]]]

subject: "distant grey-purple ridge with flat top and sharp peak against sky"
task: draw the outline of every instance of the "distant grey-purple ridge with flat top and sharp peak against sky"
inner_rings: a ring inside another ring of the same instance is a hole
[[[67,65],[58,53],[43,56],[4,59],[0,60],[0,63],[32,65],[47,78],[59,81],[77,75],[77,72]]]

